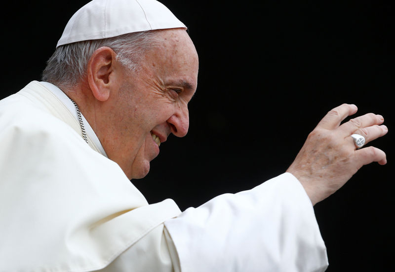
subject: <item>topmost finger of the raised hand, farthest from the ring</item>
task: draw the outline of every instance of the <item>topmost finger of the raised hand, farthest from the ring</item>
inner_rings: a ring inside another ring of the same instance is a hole
[[[339,127],[340,123],[347,116],[356,113],[358,108],[354,104],[342,104],[329,111],[318,123],[317,128],[333,130]]]

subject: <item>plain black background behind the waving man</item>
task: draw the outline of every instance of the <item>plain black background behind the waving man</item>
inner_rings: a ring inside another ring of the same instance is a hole
[[[39,80],[73,13],[87,1],[3,5],[1,98]],[[394,270],[394,3],[390,1],[163,0],[199,54],[190,130],[169,137],[133,183],[150,203],[184,210],[284,172],[331,108],[382,114],[374,145],[388,164],[362,168],[316,204],[329,272]]]

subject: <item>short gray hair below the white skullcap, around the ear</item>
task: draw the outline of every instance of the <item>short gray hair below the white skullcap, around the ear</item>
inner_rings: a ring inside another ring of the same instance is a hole
[[[57,85],[60,89],[75,87],[86,75],[93,52],[102,46],[113,49],[121,65],[137,71],[144,53],[158,47],[160,41],[158,31],[144,31],[61,45],[47,61],[41,79]]]

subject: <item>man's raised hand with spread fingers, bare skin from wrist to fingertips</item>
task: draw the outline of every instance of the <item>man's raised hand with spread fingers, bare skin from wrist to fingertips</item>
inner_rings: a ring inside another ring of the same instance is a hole
[[[287,172],[299,179],[312,204],[342,187],[363,165],[387,163],[386,154],[373,146],[356,149],[352,134],[366,142],[387,134],[381,115],[368,113],[341,124],[355,114],[355,105],[343,104],[329,111],[308,136]],[[341,125],[340,125],[341,124]]]

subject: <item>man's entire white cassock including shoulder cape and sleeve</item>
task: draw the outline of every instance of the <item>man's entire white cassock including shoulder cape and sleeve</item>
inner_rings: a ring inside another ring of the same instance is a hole
[[[290,173],[181,212],[148,204],[57,87],[0,101],[0,272],[318,272],[313,206]]]

